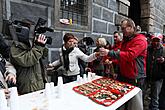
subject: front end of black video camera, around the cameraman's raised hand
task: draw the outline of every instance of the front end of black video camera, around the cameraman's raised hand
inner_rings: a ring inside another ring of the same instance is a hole
[[[38,37],[39,34],[46,33],[47,31],[48,32],[54,32],[53,29],[44,26],[46,24],[46,22],[47,21],[45,19],[42,19],[42,18],[38,19],[37,24],[36,24],[35,29],[34,29],[34,35],[36,37]],[[46,44],[51,45],[52,44],[52,38],[50,36],[46,36],[46,38],[47,38]]]

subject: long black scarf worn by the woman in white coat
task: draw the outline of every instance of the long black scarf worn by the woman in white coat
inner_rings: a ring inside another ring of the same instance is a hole
[[[64,68],[68,71],[69,70],[69,53],[72,52],[74,48],[72,47],[72,48],[68,48],[64,50],[63,46],[62,46],[62,56],[63,56],[63,61],[64,61]]]

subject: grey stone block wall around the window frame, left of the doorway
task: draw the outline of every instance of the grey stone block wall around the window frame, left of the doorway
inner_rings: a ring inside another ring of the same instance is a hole
[[[2,18],[9,19],[31,19],[37,22],[38,17],[48,20],[48,26],[54,25],[54,1],[56,0],[0,0],[0,29],[2,27]],[[121,0],[120,0],[121,1]],[[92,37],[96,40],[97,37],[105,37],[110,43],[113,43],[112,34],[117,30],[120,15],[118,11],[125,9],[124,7],[118,9],[118,0],[93,0],[92,3],[92,30],[91,32],[77,32],[72,30],[79,39],[83,37]],[[2,4],[3,3],[3,4]],[[5,5],[6,4],[6,5]],[[4,6],[5,5],[5,6]],[[4,10],[2,10],[4,7]],[[126,13],[127,12],[121,12]],[[123,15],[122,15],[123,17]],[[63,41],[62,36],[69,31],[55,30],[54,33],[47,33],[53,35],[52,45],[49,47],[49,61],[54,61],[58,58],[58,49],[61,47]]]

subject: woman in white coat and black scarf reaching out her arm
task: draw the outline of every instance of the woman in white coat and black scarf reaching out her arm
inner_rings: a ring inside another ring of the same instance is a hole
[[[63,82],[69,83],[77,80],[77,75],[80,74],[80,68],[78,65],[78,58],[85,62],[91,62],[99,57],[99,52],[95,52],[91,55],[84,54],[76,44],[78,42],[77,37],[71,33],[66,33],[63,37],[64,44],[60,49],[60,59],[49,64],[50,67],[57,67],[62,71]]]

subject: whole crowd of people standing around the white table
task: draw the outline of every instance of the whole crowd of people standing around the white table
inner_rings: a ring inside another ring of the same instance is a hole
[[[119,107],[119,110],[143,110],[145,91],[150,87],[149,110],[164,110],[163,35],[141,33],[140,26],[136,26],[129,18],[122,20],[120,26],[122,32],[115,31],[113,34],[114,45],[106,38],[98,37],[93,53],[83,51],[78,38],[66,33],[63,36],[64,44],[60,48],[59,59],[49,63],[48,69],[56,69],[56,74],[62,75],[64,84],[76,81],[79,74],[83,76],[86,71],[92,71],[96,75],[111,77],[139,87],[142,91]],[[19,95],[22,95],[41,90],[48,82],[42,62],[48,54],[48,49],[45,47],[45,35],[40,34],[32,41],[29,35],[17,37],[10,49],[1,37],[3,46],[0,46],[0,52],[7,51],[0,53],[0,88],[6,92],[7,85],[11,86],[8,82],[12,82],[17,86]],[[91,40],[90,44],[93,43]],[[80,66],[80,60],[81,63],[85,62],[85,66]]]

